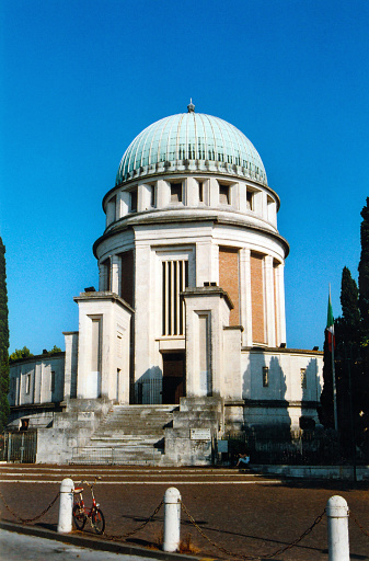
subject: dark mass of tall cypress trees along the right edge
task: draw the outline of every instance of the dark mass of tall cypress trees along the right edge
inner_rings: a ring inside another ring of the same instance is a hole
[[[369,197],[361,211],[361,256],[359,287],[347,267],[341,286],[342,317],[335,329],[335,380],[341,444],[349,456],[355,443],[369,451]],[[332,428],[333,377],[332,353],[324,344],[324,387],[320,420]]]

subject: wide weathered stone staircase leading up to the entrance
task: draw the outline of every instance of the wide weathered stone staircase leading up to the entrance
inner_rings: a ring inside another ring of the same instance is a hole
[[[177,405],[113,405],[72,463],[158,466]]]

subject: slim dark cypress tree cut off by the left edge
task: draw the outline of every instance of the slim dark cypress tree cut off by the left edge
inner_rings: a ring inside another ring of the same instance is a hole
[[[5,247],[0,237],[0,432],[9,417],[9,320]]]

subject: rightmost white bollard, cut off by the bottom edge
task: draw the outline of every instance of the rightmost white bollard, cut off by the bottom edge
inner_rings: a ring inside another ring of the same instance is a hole
[[[331,496],[326,503],[330,561],[349,561],[348,506],[343,496]]]

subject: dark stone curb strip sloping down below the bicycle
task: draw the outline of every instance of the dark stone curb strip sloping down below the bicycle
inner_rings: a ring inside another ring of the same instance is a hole
[[[77,534],[57,534],[54,530],[46,528],[37,528],[35,526],[25,526],[23,524],[9,523],[0,520],[0,529],[8,531],[15,531],[26,536],[36,536],[44,539],[53,539],[55,541],[62,541],[64,543],[71,543],[80,548],[89,548],[97,551],[109,551],[112,553],[120,553],[125,556],[137,556],[158,559],[159,561],[204,561],[204,557],[187,556],[183,553],[169,553],[154,549],[139,548],[124,542],[104,540],[99,538],[90,538]],[[206,561],[215,561],[215,558],[206,558]]]

